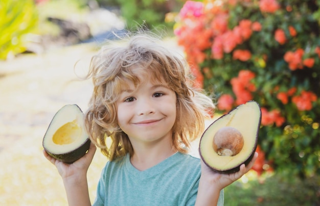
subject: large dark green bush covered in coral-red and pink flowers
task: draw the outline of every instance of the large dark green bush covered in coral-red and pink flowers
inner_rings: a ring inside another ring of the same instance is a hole
[[[320,174],[319,5],[187,1],[175,24],[197,86],[215,94],[222,113],[259,102],[266,160],[302,177]]]

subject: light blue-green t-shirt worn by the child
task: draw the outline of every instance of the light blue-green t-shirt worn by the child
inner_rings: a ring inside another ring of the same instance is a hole
[[[127,154],[103,168],[94,205],[194,205],[200,174],[200,160],[180,152],[144,171]]]

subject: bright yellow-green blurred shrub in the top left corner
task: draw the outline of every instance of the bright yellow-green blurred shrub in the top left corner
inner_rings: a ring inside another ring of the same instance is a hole
[[[34,1],[0,1],[0,59],[26,50],[24,35],[36,27],[37,20]]]

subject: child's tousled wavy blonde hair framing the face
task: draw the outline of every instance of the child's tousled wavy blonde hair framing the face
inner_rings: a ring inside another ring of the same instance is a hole
[[[146,72],[152,81],[167,85],[176,94],[173,148],[186,153],[190,142],[202,134],[204,118],[212,115],[208,111],[214,111],[214,104],[191,86],[187,66],[184,58],[167,49],[161,38],[146,32],[110,41],[92,58],[87,78],[92,78],[94,91],[85,112],[85,128],[90,140],[110,161],[128,152],[133,155],[130,140],[118,125],[116,101],[128,82],[139,85]]]

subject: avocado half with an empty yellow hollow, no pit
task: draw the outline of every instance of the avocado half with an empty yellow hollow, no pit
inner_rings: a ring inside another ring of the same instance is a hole
[[[83,123],[84,115],[77,105],[63,106],[43,137],[44,150],[51,157],[68,164],[80,159],[90,146]]]

